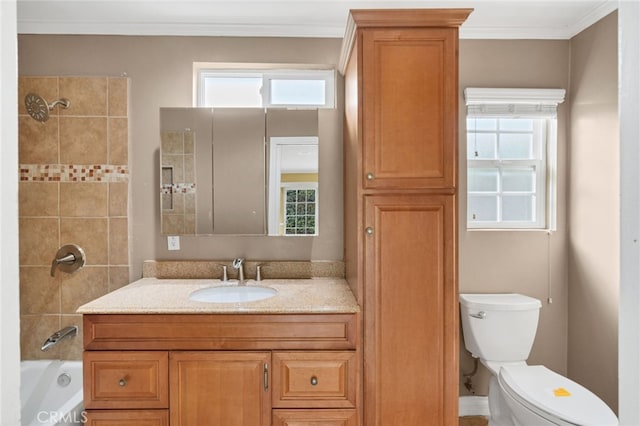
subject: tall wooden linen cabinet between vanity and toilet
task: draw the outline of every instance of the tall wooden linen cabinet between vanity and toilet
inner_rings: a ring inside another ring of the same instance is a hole
[[[345,262],[363,306],[364,426],[458,424],[458,28],[469,13],[349,15]]]

